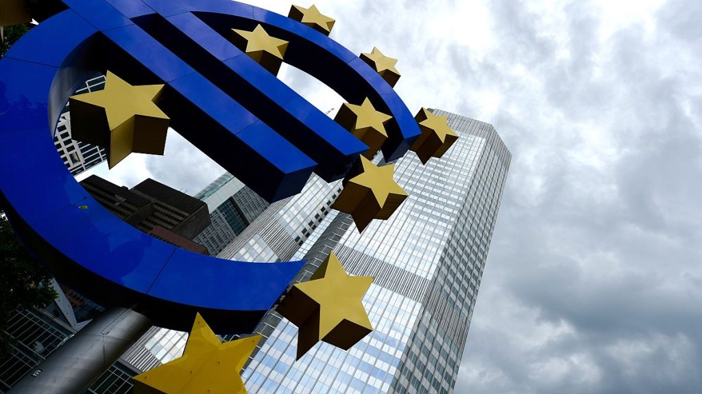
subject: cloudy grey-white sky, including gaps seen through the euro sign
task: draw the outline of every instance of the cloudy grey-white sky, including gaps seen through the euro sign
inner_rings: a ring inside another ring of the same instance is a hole
[[[411,111],[489,122],[512,151],[456,393],[702,393],[702,1],[316,4],[336,41],[399,58]],[[223,172],[175,133],[133,156],[110,178],[192,194]]]

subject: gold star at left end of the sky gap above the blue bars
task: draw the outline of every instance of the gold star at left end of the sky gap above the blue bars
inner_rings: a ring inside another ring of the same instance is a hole
[[[261,25],[256,25],[253,32],[232,29],[231,39],[246,55],[251,56],[274,75],[278,75],[288,41],[270,36]]]

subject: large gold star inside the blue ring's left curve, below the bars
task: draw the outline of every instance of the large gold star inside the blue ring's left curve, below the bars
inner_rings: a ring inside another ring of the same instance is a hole
[[[163,87],[107,72],[104,90],[69,97],[72,137],[104,147],[110,168],[132,152],[164,154],[169,118],[154,104]]]

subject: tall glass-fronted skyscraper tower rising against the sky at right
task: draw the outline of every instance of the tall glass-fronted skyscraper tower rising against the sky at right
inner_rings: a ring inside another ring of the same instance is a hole
[[[453,390],[511,155],[491,125],[434,113],[461,138],[427,165],[412,153],[397,161],[409,198],[395,215],[359,233],[333,211],[292,255],[307,259],[296,281],[331,251],[352,275],[373,276],[364,306],[374,331],[349,351],[320,343],[295,362],[297,327],[269,313],[243,374],[249,393]]]

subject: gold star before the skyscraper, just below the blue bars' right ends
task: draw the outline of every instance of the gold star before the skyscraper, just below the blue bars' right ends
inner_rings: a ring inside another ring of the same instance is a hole
[[[394,164],[377,167],[360,156],[352,171],[357,175],[345,182],[331,208],[351,214],[358,231],[363,231],[373,219],[390,219],[407,198],[407,193],[392,179],[394,171]]]

